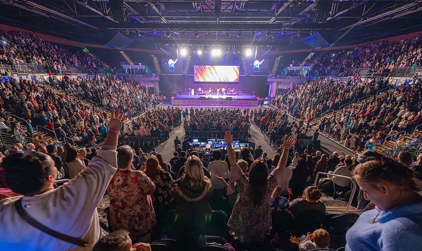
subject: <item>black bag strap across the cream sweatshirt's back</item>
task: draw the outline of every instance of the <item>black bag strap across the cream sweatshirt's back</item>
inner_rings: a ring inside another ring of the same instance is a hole
[[[15,202],[15,208],[18,211],[19,215],[26,222],[28,222],[28,224],[32,225],[33,227],[37,228],[40,231],[43,231],[43,232],[45,232],[45,233],[47,233],[47,234],[49,234],[49,235],[51,235],[51,236],[53,236],[55,238],[61,239],[63,241],[66,241],[68,243],[72,243],[72,244],[77,245],[77,246],[90,246],[91,245],[90,243],[88,243],[88,242],[86,242],[84,240],[81,240],[81,239],[78,239],[78,238],[75,238],[75,237],[72,237],[72,236],[63,234],[63,233],[59,233],[59,232],[57,232],[57,231],[55,231],[55,230],[53,230],[53,229],[51,229],[51,228],[43,225],[42,223],[40,223],[39,221],[37,221],[36,219],[34,219],[33,217],[31,217],[25,211],[25,209],[22,206],[22,198],[20,198],[19,200],[17,200]]]

